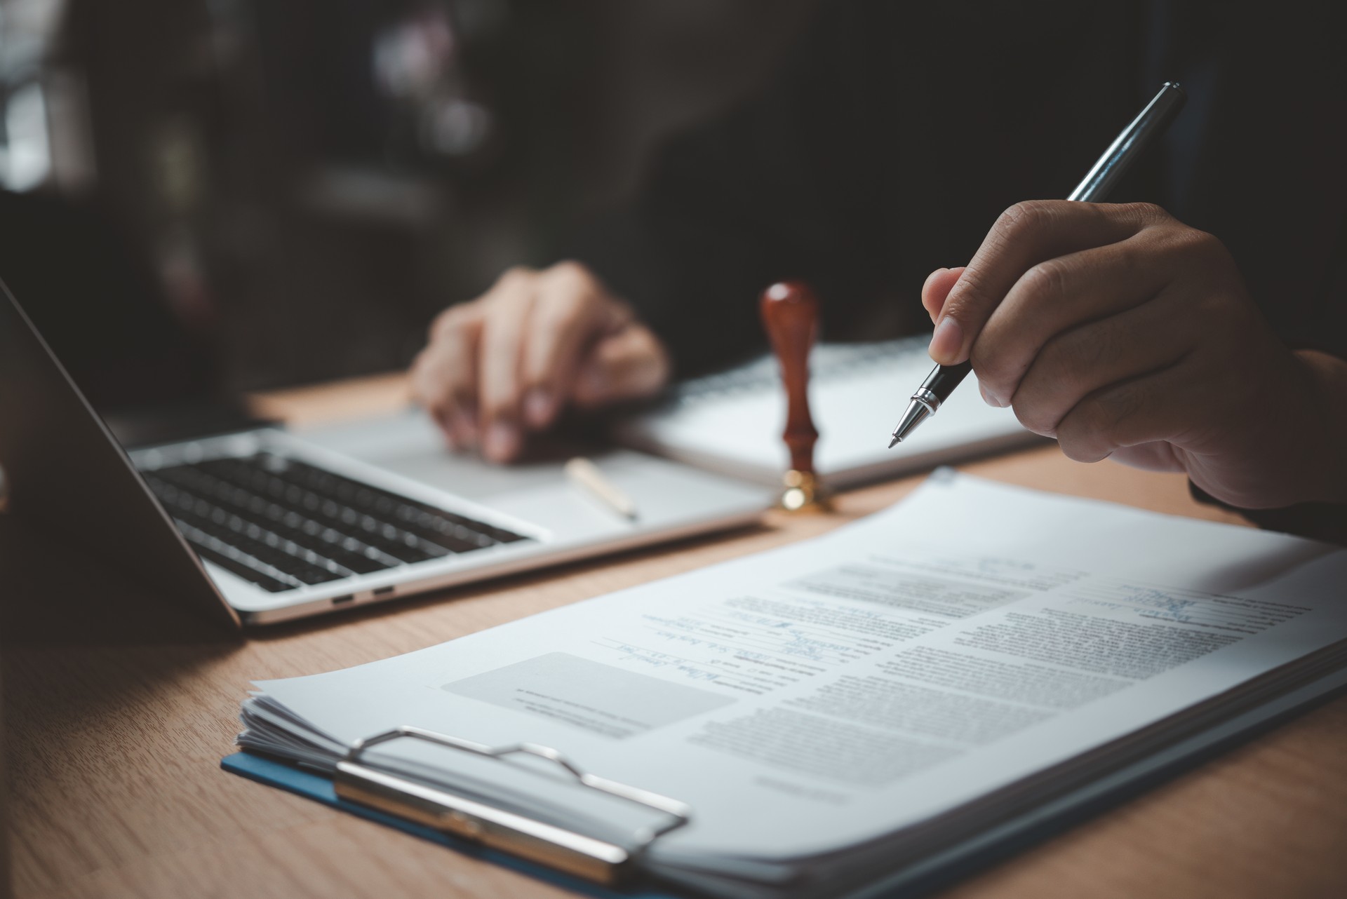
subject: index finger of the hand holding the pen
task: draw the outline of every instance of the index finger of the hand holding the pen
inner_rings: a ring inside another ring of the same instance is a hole
[[[1150,210],[1144,203],[1061,199],[1016,203],[1004,211],[940,308],[931,358],[940,365],[967,359],[982,326],[1025,272],[1065,253],[1126,240],[1153,217]]]

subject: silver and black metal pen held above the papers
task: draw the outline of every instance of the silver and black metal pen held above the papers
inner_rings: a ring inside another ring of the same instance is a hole
[[[1164,133],[1169,122],[1175,120],[1183,109],[1185,97],[1183,87],[1177,82],[1167,81],[1160,93],[1146,104],[1131,124],[1122,129],[1118,139],[1113,141],[1103,156],[1094,164],[1090,174],[1084,176],[1067,199],[1086,203],[1096,203],[1109,195],[1118,179],[1141,155],[1141,152],[1156,137]],[[908,408],[893,429],[893,440],[889,450],[911,435],[919,424],[929,419],[940,409],[940,404],[950,398],[959,382],[973,370],[971,362],[959,365],[938,365],[916,389],[908,400]]]

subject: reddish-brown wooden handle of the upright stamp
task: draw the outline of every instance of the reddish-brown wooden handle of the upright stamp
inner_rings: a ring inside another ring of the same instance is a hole
[[[791,468],[814,474],[819,432],[810,416],[810,350],[819,331],[819,301],[801,281],[781,281],[762,291],[762,324],[781,363],[787,419],[781,437],[791,448]]]

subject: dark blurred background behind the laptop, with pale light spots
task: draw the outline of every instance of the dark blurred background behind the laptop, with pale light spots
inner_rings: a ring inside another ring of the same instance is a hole
[[[229,390],[397,369],[768,78],[811,7],[0,0],[0,276],[58,351],[139,342],[147,378],[172,335]]]

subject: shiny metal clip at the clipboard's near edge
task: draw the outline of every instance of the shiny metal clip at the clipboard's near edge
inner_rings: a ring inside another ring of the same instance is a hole
[[[641,828],[634,834],[634,848],[626,848],[361,764],[360,758],[365,750],[399,738],[424,740],[492,759],[516,754],[547,759],[567,771],[581,786],[663,812],[671,820],[657,828]],[[603,886],[620,883],[634,867],[632,861],[641,852],[669,830],[682,828],[692,816],[691,806],[684,802],[582,771],[564,755],[547,746],[513,743],[492,747],[408,725],[356,740],[346,755],[337,762],[333,786],[342,799],[445,830]]]

